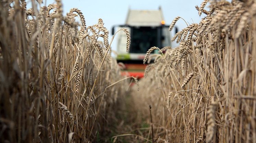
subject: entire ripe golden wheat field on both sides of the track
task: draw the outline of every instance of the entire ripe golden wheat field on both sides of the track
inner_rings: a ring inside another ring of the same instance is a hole
[[[101,18],[37,2],[0,1],[0,142],[256,142],[255,0],[195,6],[200,23],[178,47],[151,45],[139,81],[121,75]]]

